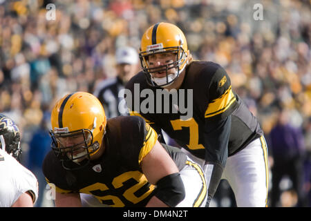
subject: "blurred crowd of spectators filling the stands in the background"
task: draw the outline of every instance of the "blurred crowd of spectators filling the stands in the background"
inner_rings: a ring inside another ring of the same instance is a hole
[[[55,5],[55,20],[46,17],[48,3]],[[261,19],[255,17],[260,10],[254,8],[256,3],[263,6]],[[293,188],[294,180],[280,178],[283,195],[274,206],[295,206],[301,194],[305,204],[298,205],[310,206],[310,4],[309,0],[0,0],[0,112],[21,128],[23,164],[39,171],[50,148],[49,114],[56,99],[77,90],[93,93],[98,82],[115,76],[116,48],[138,50],[144,31],[167,21],[185,33],[194,59],[214,61],[227,70],[234,90],[261,122],[271,168],[287,162],[276,156],[288,150],[284,144],[282,151],[274,150],[271,131],[281,113],[288,113],[286,124],[298,131],[300,141],[293,138],[288,146],[293,150],[290,157],[302,165],[303,193]],[[286,137],[275,134],[276,140]]]

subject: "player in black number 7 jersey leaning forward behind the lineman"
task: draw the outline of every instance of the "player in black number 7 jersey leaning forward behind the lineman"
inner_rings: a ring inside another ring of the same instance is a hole
[[[224,68],[194,61],[182,30],[163,22],[144,32],[140,61],[143,70],[124,92],[131,115],[143,117],[158,133],[164,130],[200,162],[209,185],[207,206],[222,178],[232,186],[237,206],[266,206],[263,131]]]

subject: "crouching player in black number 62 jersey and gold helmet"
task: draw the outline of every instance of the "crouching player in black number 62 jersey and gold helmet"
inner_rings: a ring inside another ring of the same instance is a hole
[[[43,171],[55,185],[55,206],[82,206],[80,193],[117,207],[205,206],[201,167],[178,148],[162,146],[141,117],[106,120],[94,95],[77,92],[59,99],[51,123]]]

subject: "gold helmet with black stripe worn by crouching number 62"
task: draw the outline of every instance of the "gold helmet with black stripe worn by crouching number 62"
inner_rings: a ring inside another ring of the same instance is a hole
[[[77,164],[97,153],[106,129],[106,115],[100,101],[85,92],[65,95],[55,104],[51,113],[53,152],[65,169],[78,169]],[[64,140],[83,137],[82,142],[66,145]],[[75,162],[69,166],[68,162]],[[84,164],[85,165],[85,164]]]

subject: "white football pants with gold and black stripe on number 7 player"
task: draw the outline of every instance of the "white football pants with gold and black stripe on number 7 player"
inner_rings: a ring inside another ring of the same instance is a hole
[[[182,151],[204,167],[205,160]],[[267,206],[268,174],[267,144],[262,136],[227,158],[221,179],[229,182],[238,207],[262,207]],[[208,185],[210,177],[205,176]]]

